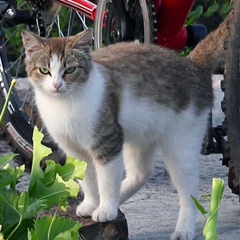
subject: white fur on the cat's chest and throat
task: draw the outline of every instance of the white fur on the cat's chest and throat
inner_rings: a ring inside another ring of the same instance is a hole
[[[54,92],[52,81],[48,76],[42,83],[46,91]],[[89,80],[76,89],[77,94],[73,93],[74,99],[64,94],[64,88],[64,82],[60,93],[43,94],[36,88],[36,103],[49,133],[67,154],[78,158],[78,146],[88,150],[94,143],[92,135],[103,100],[104,78],[93,67]]]

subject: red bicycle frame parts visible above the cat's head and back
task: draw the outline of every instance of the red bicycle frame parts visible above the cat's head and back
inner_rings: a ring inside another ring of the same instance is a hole
[[[77,9],[88,19],[95,21],[97,5],[88,0],[55,0]],[[118,0],[112,0],[118,1]],[[187,43],[185,20],[194,0],[153,0],[157,13],[158,45],[180,50]]]

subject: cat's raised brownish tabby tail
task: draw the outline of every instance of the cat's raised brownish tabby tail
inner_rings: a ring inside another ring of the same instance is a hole
[[[229,36],[229,20],[233,12],[230,12],[219,27],[204,38],[189,54],[190,58],[198,67],[213,72],[217,64],[225,58],[224,45]]]

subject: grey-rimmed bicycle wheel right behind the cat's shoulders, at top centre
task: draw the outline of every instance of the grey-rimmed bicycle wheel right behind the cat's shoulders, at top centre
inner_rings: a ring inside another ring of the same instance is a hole
[[[157,20],[152,0],[99,0],[95,49],[121,42],[155,43]]]

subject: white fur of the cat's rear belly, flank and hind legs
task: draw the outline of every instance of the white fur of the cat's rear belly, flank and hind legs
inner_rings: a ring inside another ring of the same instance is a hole
[[[160,148],[164,162],[180,197],[178,223],[171,239],[193,239],[199,154],[210,109],[201,114],[190,105],[185,111],[141,101],[125,92],[120,124],[125,133],[124,164],[127,176],[122,182],[121,203],[142,187],[153,171],[153,153]]]

